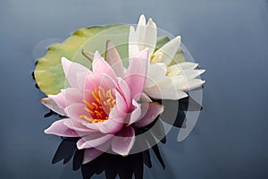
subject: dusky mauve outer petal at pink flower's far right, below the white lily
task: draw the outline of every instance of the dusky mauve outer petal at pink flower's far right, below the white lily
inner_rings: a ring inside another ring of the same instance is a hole
[[[163,113],[163,106],[156,102],[149,103],[146,115],[144,115],[137,123],[133,124],[133,127],[141,128],[155,121],[156,116]]]

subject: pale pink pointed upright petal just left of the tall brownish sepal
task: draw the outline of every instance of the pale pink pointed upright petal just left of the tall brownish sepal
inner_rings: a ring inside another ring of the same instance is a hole
[[[112,67],[105,62],[105,59],[96,51],[93,59],[92,69],[96,79],[102,79],[103,74],[110,76],[113,81],[116,81],[116,75]]]

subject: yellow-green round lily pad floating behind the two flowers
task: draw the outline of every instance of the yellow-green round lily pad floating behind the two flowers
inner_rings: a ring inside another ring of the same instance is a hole
[[[73,62],[91,67],[90,61],[81,53],[82,49],[89,52],[99,51],[105,55],[105,43],[108,39],[113,41],[114,46],[119,51],[124,64],[128,64],[129,52],[129,25],[108,25],[104,27],[90,27],[76,30],[69,38],[62,43],[57,43],[48,48],[45,56],[38,60],[34,72],[38,87],[46,95],[54,95],[60,90],[68,87],[61,58],[64,56]],[[160,48],[170,39],[160,37],[157,39],[156,49]],[[177,59],[177,60],[176,60]],[[174,61],[185,61],[182,52],[178,51]]]

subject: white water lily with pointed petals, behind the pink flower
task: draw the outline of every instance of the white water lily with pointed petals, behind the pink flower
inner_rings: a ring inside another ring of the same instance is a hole
[[[149,65],[144,92],[151,98],[180,99],[188,96],[188,90],[202,86],[205,81],[197,77],[205,70],[197,70],[198,64],[185,62],[172,64],[172,59],[180,49],[180,36],[155,51],[157,28],[150,18],[146,21],[142,14],[135,30],[130,26],[129,56],[137,55],[139,51],[149,49]]]

